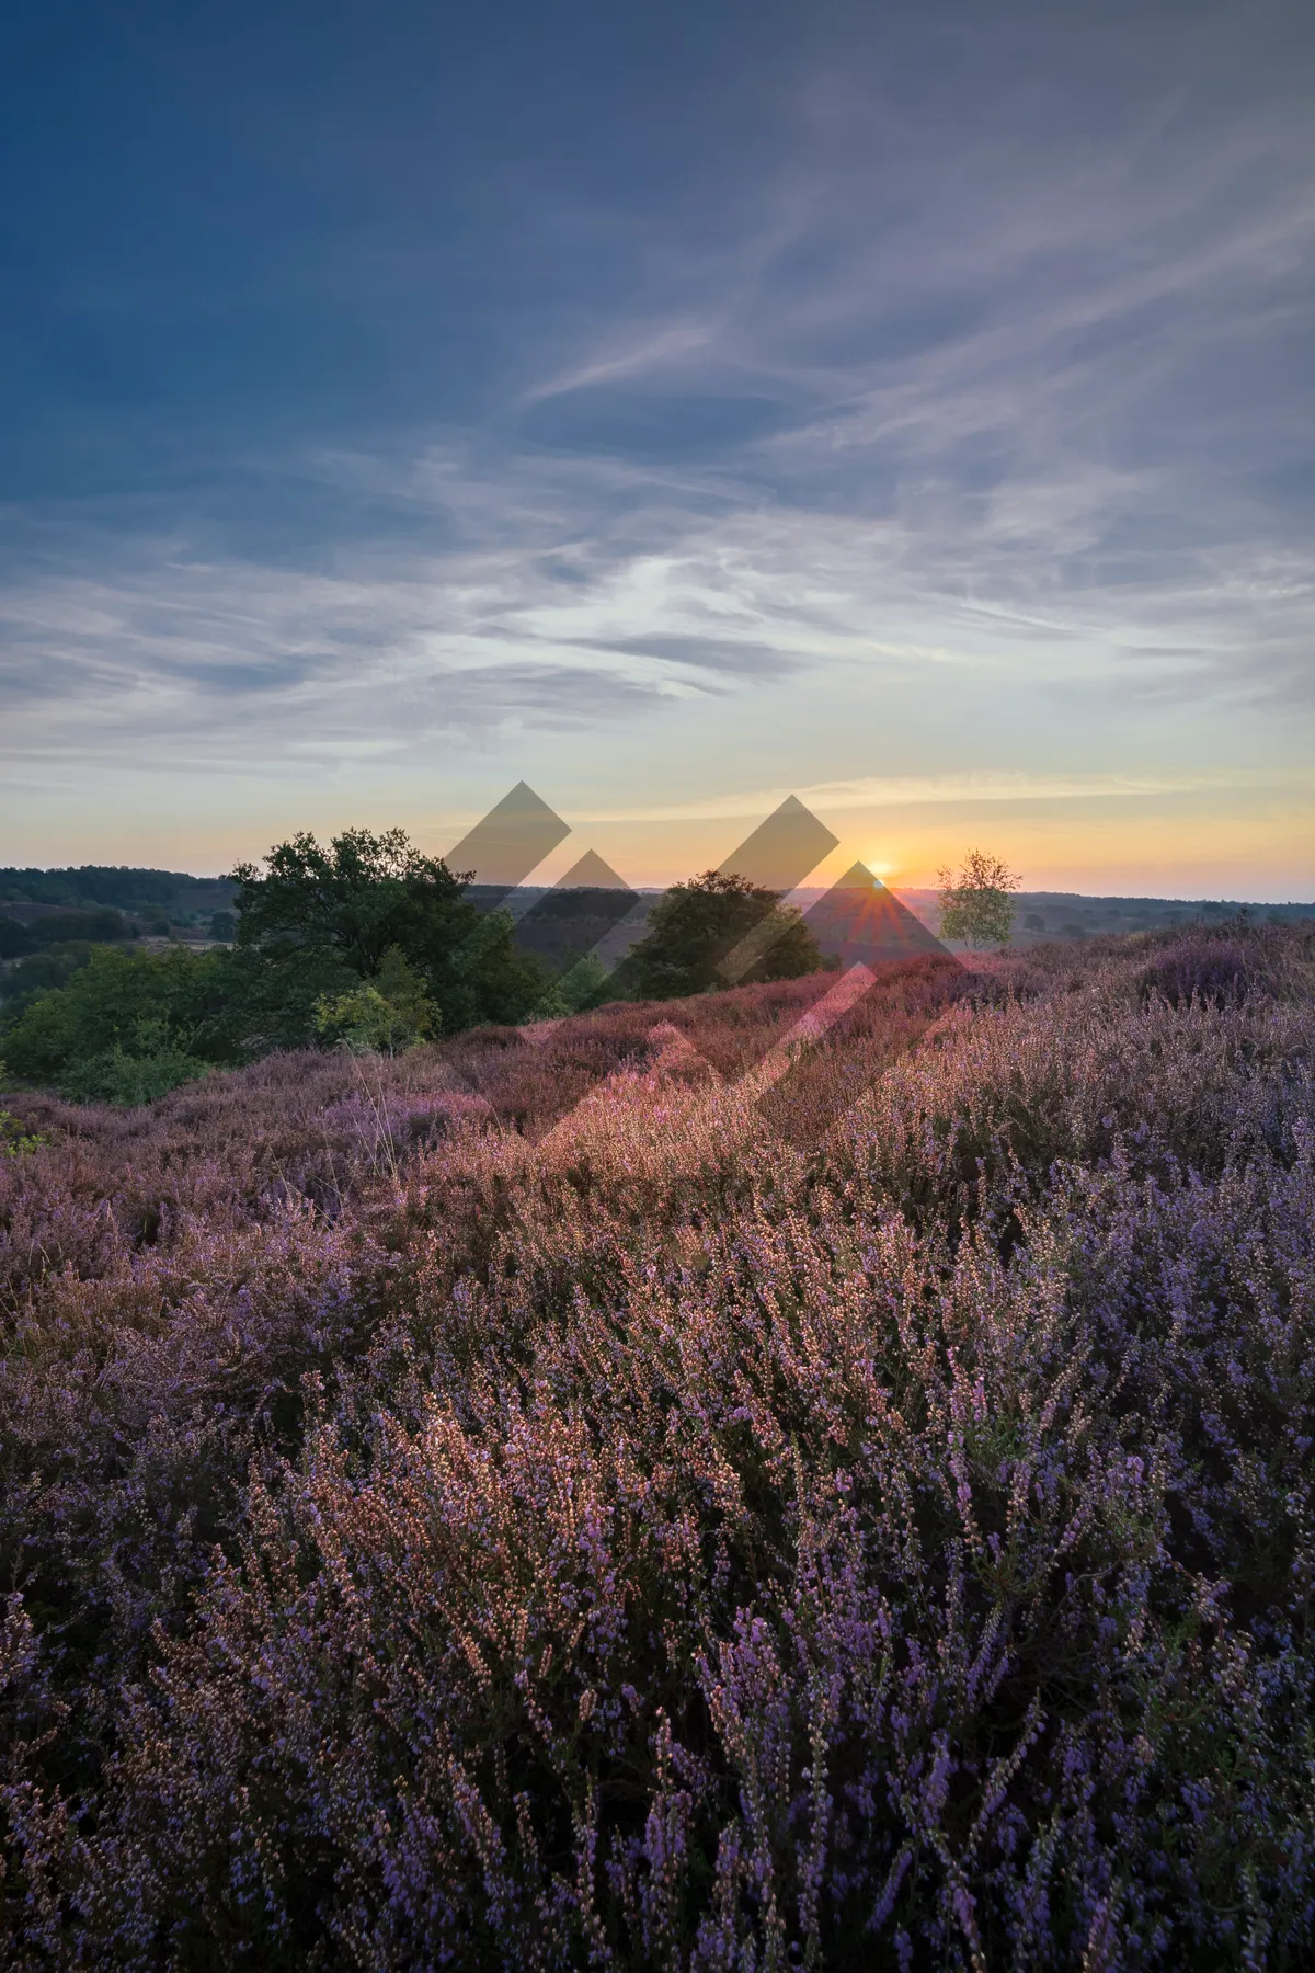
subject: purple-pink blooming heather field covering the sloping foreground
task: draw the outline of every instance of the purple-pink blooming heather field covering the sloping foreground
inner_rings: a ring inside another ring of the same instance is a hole
[[[8,1967],[1315,1963],[1315,931],[842,986],[4,1099]]]

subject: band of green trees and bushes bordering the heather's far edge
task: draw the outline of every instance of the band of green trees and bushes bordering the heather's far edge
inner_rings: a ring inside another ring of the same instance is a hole
[[[467,874],[400,829],[349,829],[327,846],[292,837],[233,872],[231,945],[150,951],[120,937],[65,951],[63,977],[6,996],[0,1056],[10,1075],[75,1101],[144,1103],[286,1048],[396,1054],[489,1022],[704,992],[726,985],[720,963],[767,919],[739,981],[824,963],[775,892],[716,872],[672,886],[611,973],[564,941],[556,959],[526,951],[511,913],[469,892]],[[588,898],[580,923],[591,925]]]

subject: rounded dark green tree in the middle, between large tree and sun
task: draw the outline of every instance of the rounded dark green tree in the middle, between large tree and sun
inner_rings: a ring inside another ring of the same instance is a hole
[[[779,929],[767,927],[777,915]],[[649,915],[649,933],[623,959],[619,983],[635,998],[678,1000],[731,985],[729,955],[759,933],[761,953],[733,975],[733,985],[793,981],[822,969],[818,943],[795,910],[781,910],[775,890],[741,876],[704,870],[672,884]]]

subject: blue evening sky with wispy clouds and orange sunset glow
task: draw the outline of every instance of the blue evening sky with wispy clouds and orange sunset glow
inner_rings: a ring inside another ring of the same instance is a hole
[[[1315,898],[1309,0],[10,0],[0,864]]]

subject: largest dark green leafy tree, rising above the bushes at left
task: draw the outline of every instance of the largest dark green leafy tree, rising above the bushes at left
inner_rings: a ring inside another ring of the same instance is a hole
[[[254,864],[233,870],[237,953],[260,955],[288,975],[306,965],[321,979],[310,998],[371,981],[396,949],[444,1010],[450,1032],[479,1020],[524,1020],[544,992],[536,959],[520,953],[507,912],[481,913],[465,896],[469,874],[424,856],[402,829],[347,829],[327,846],[302,833]],[[310,1036],[308,1036],[310,1038]]]

